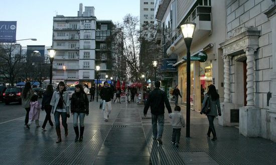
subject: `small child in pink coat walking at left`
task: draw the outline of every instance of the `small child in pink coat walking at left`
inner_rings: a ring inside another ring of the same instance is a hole
[[[39,114],[40,114],[40,103],[37,100],[38,99],[38,95],[34,94],[31,97],[31,109],[30,109],[30,113],[29,113],[29,122],[28,125],[30,126],[33,122],[33,120],[36,120],[36,125],[37,127],[40,127],[39,125]]]

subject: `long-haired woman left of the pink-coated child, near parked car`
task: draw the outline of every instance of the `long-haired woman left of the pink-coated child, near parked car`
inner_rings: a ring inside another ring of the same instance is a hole
[[[22,95],[21,95],[21,99],[22,99],[22,107],[24,107],[26,110],[25,126],[27,128],[30,128],[30,126],[28,125],[28,121],[29,121],[29,112],[30,112],[30,108],[31,108],[30,103],[31,103],[31,98],[33,95],[34,95],[34,92],[32,90],[31,82],[26,82],[25,87],[22,92]]]

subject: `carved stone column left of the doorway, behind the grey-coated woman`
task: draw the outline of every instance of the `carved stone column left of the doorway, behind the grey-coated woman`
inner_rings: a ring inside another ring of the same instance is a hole
[[[224,101],[230,102],[230,57],[227,54],[222,55],[224,61]]]

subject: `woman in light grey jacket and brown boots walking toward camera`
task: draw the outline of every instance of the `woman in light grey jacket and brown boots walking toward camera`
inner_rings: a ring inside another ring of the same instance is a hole
[[[52,113],[54,113],[55,116],[55,122],[56,122],[56,132],[57,132],[57,141],[61,142],[61,133],[60,133],[60,116],[62,120],[62,126],[64,127],[65,131],[65,137],[68,135],[68,126],[67,126],[67,117],[70,117],[70,111],[69,111],[69,94],[66,91],[65,83],[63,81],[60,81],[57,87],[57,90],[54,91],[51,103],[52,105]]]

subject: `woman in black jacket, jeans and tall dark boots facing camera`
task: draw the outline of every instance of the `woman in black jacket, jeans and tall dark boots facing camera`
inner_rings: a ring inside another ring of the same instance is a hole
[[[75,92],[71,98],[71,114],[73,114],[73,125],[76,133],[75,142],[82,141],[84,131],[84,116],[89,114],[89,101],[81,84],[76,85]],[[78,128],[78,117],[80,120],[80,134]]]

